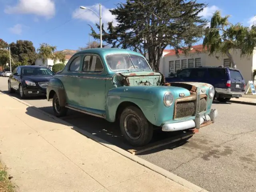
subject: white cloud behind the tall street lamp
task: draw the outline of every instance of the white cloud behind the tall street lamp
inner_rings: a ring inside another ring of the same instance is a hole
[[[86,7],[94,10],[98,15],[100,15],[99,4],[95,4],[93,6],[86,6]],[[104,26],[106,26],[107,22],[112,22],[112,21],[113,21],[113,25],[116,26],[118,22],[116,22],[115,16],[113,16],[110,13],[109,11],[110,9],[106,8],[103,5],[101,6],[101,8],[102,8],[102,23],[104,23]],[[100,19],[91,10],[84,10],[84,9],[77,8],[72,13],[72,18],[77,18],[80,20],[86,20],[91,23],[100,24]]]

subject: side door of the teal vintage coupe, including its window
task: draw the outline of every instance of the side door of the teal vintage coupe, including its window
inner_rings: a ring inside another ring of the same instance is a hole
[[[80,106],[102,115],[106,109],[106,68],[96,54],[85,54],[82,59],[82,72],[79,78]]]

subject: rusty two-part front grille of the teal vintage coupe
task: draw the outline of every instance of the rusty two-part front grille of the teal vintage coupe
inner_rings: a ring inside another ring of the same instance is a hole
[[[201,98],[198,103],[199,112],[205,111],[207,104],[206,97]],[[175,107],[174,119],[196,115],[196,100],[177,102]]]

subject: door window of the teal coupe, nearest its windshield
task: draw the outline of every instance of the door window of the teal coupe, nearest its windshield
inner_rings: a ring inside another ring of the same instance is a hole
[[[85,72],[102,72],[103,65],[98,56],[85,56],[83,62],[83,71]]]

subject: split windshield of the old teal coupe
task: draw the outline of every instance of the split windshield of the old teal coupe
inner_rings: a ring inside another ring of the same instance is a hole
[[[106,56],[110,70],[134,70],[143,69],[151,70],[148,63],[143,57],[129,54],[116,54]]]

